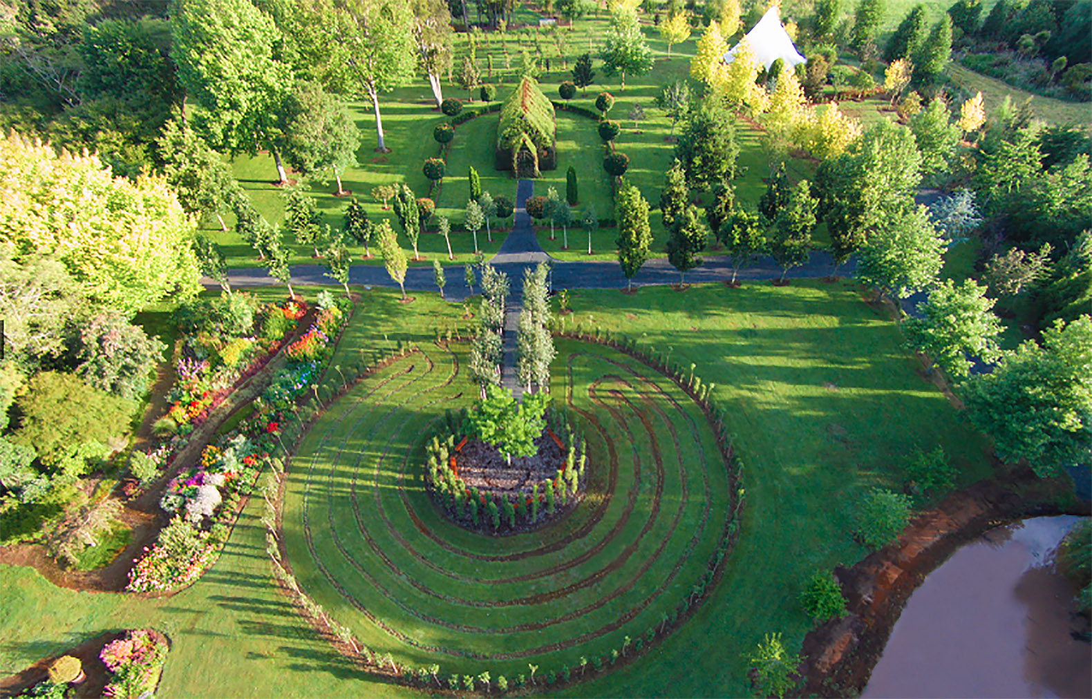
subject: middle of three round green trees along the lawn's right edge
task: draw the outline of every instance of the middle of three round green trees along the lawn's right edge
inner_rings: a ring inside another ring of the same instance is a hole
[[[960,286],[946,279],[918,304],[922,317],[903,323],[906,342],[929,358],[929,371],[937,365],[953,378],[965,378],[971,369],[968,358],[997,359],[1001,324],[993,312],[994,303],[986,297],[986,287],[973,279]]]

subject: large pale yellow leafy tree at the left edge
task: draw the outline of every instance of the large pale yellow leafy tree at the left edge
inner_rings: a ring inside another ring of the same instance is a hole
[[[134,313],[197,290],[193,221],[163,178],[115,178],[16,134],[0,134],[0,240],[60,261],[93,304]]]

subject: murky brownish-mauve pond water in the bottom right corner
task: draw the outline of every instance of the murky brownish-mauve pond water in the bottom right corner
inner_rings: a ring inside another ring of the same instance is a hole
[[[1092,647],[1054,551],[1077,517],[994,529],[934,570],[862,697],[1092,697]]]

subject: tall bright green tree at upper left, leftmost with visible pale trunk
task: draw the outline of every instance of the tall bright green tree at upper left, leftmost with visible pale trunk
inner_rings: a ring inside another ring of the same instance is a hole
[[[232,153],[268,148],[282,182],[281,117],[292,70],[274,58],[281,33],[248,0],[175,0],[170,55],[189,96],[194,124]]]

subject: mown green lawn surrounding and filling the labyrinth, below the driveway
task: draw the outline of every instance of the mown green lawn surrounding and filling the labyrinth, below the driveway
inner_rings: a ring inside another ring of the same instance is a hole
[[[306,290],[312,297],[314,291]],[[283,296],[276,288],[263,289],[261,293],[271,298]],[[729,430],[737,435],[736,445],[745,465],[747,495],[743,534],[729,555],[725,579],[715,588],[712,599],[700,613],[660,643],[650,658],[586,685],[569,688],[565,691],[567,695],[651,696],[665,691],[673,696],[746,694],[746,663],[741,656],[762,634],[784,631],[792,647],[810,627],[804,612],[794,603],[803,582],[815,570],[827,570],[835,564],[852,564],[864,554],[848,532],[851,504],[864,489],[874,485],[899,489],[901,467],[906,455],[917,445],[923,448],[942,445],[959,468],[960,484],[989,473],[985,439],[958,420],[953,409],[930,384],[918,378],[913,360],[900,348],[897,328],[862,303],[859,291],[852,284],[794,281],[792,286],[782,288],[747,285],[739,290],[705,286],[693,287],[685,293],[669,288],[643,288],[631,297],[616,291],[596,291],[594,294],[575,291],[571,292],[571,297],[575,314],[569,316],[570,326],[583,323],[625,330],[641,342],[663,352],[670,351],[672,361],[684,367],[693,362],[697,374],[704,382],[716,384],[714,396],[727,409]],[[368,562],[364,569],[375,577],[379,586],[383,586],[383,590],[389,589],[387,586],[402,586],[395,588],[399,590],[406,587],[404,578],[373,558],[376,554],[359,538],[355,526],[345,528],[346,510],[343,507],[344,503],[353,502],[355,487],[357,499],[367,498],[360,503],[359,513],[366,518],[363,521],[369,525],[369,532],[372,531],[370,525],[383,515],[396,523],[395,530],[375,529],[373,541],[380,550],[395,552],[393,555],[400,569],[406,566],[411,573],[406,579],[419,581],[427,589],[447,596],[467,601],[489,600],[489,593],[478,584],[452,578],[454,575],[465,577],[473,570],[459,555],[443,553],[443,558],[437,561],[449,567],[440,566],[442,571],[434,569],[419,556],[407,555],[404,544],[391,538],[391,531],[406,538],[415,550],[436,552],[438,556],[441,554],[435,542],[407,525],[408,510],[395,489],[367,487],[377,478],[379,484],[392,484],[390,469],[394,466],[391,465],[401,468],[402,460],[416,453],[415,441],[429,414],[436,414],[435,411],[446,405],[458,406],[468,400],[467,395],[473,389],[460,376],[452,378],[450,385],[443,385],[453,372],[454,358],[429,346],[436,325],[464,326],[466,321],[458,318],[459,313],[461,306],[447,304],[431,293],[418,293],[416,301],[404,305],[397,302],[395,291],[372,289],[364,292],[363,304],[332,361],[349,365],[360,361],[361,352],[393,348],[402,341],[419,342],[426,347],[431,366],[426,355],[412,355],[361,384],[354,395],[363,398],[370,390],[370,397],[360,402],[352,397],[339,402],[319,423],[321,429],[308,437],[305,453],[316,458],[316,465],[327,465],[325,470],[313,472],[309,486],[317,508],[311,525],[321,534],[316,539],[316,545],[320,545],[323,552],[319,559],[328,562],[331,570],[339,576],[347,576],[342,579],[352,582],[354,594],[361,595],[369,603],[376,601],[376,608],[381,610],[382,617],[390,619],[393,628],[403,630],[416,642],[488,653],[495,652],[498,638],[495,632],[508,624],[506,619],[553,618],[562,608],[568,611],[573,607],[547,604],[541,610],[542,617],[522,608],[506,607],[503,614],[498,614],[488,608],[473,607],[459,615],[462,627],[438,631],[435,624],[426,624],[420,617],[454,618],[446,616],[452,614],[447,604],[416,588],[414,594],[420,595],[419,605],[411,602],[410,598],[403,601],[396,595],[393,599],[383,596],[379,588],[364,584],[366,578],[354,577],[355,568],[348,561],[359,557]],[[603,405],[584,402],[584,407],[614,421],[610,423],[614,426],[608,425],[606,430],[615,441],[620,463],[622,459],[634,458],[633,455],[641,458],[640,475],[632,467],[628,474],[625,469],[619,470],[618,487],[621,493],[628,493],[630,487],[636,487],[639,493],[652,492],[650,489],[655,485],[654,479],[658,478],[650,475],[654,462],[646,458],[652,450],[653,436],[658,444],[656,453],[662,457],[665,473],[677,472],[679,456],[672,438],[672,431],[676,432],[684,449],[686,473],[682,478],[690,484],[690,495],[684,504],[679,526],[690,527],[693,531],[693,517],[699,513],[693,507],[700,499],[696,494],[702,492],[703,485],[698,467],[700,458],[691,459],[689,456],[698,453],[695,451],[699,449],[698,445],[702,445],[699,451],[708,447],[705,437],[700,431],[696,438],[687,437],[691,427],[685,413],[673,417],[675,408],[655,399],[655,391],[643,379],[625,378],[631,376],[630,370],[641,372],[640,366],[633,366],[625,358],[620,358],[620,365],[604,363],[606,359],[618,360],[619,357],[586,352],[584,346],[579,344],[560,344],[560,349],[562,353],[554,367],[555,390],[563,395],[571,384],[575,401],[591,401],[592,396],[586,393],[589,382],[601,377],[604,383],[594,397]],[[579,354],[581,350],[585,354]],[[456,349],[455,357],[461,351]],[[570,360],[571,379],[568,374]],[[410,365],[414,365],[413,372],[403,374],[399,381],[391,379],[384,387],[378,386],[384,377],[392,377],[399,369],[406,370]],[[651,378],[658,381],[654,376]],[[332,384],[340,378],[335,372],[329,372],[325,381]],[[670,390],[669,385],[660,385],[664,390]],[[630,408],[630,405],[640,405],[645,400],[642,391],[653,396],[652,403],[643,412],[654,414],[661,410],[665,415],[650,421],[652,432],[645,430]],[[463,396],[456,397],[459,393]],[[689,411],[685,405],[682,409]],[[353,423],[357,423],[355,429],[348,426]],[[606,441],[600,444],[593,448],[602,454],[602,445]],[[378,459],[387,446],[390,450],[384,459],[393,461],[379,463]],[[335,458],[339,448],[341,454]],[[367,468],[355,469],[353,465],[356,461]],[[377,463],[380,469],[378,475],[375,471]],[[305,487],[301,481],[307,469],[307,462],[300,457],[293,470],[293,489],[297,495]],[[699,474],[697,481],[692,480],[693,474]],[[672,475],[664,482],[672,481],[675,482],[669,486],[672,489],[678,489],[682,482],[678,475]],[[715,485],[715,481],[711,485]],[[420,492],[414,490],[419,487],[418,483],[410,479],[404,481],[404,487],[411,506],[418,511],[427,511],[419,499]],[[674,508],[682,502],[680,490],[665,492],[676,493],[676,498],[665,498],[661,511],[668,505]],[[375,501],[377,494],[381,508]],[[620,494],[613,497],[608,510],[616,515],[622,499]],[[297,496],[290,502],[295,503],[296,509],[287,515],[298,517],[302,498]],[[723,511],[716,509],[723,507],[723,496],[711,498],[710,504],[714,507],[710,516]],[[327,511],[340,513],[334,519],[336,528],[324,523]],[[0,618],[0,637],[4,639],[0,643],[0,672],[16,672],[37,658],[63,650],[105,630],[154,626],[166,631],[174,643],[161,688],[163,696],[405,694],[402,688],[371,682],[352,668],[314,636],[294,614],[285,598],[271,587],[269,564],[262,552],[262,527],[258,522],[260,513],[260,502],[252,503],[216,566],[192,588],[164,600],[78,594],[54,588],[27,568],[0,567],[0,605],[9,611]],[[571,526],[575,526],[579,516],[578,511]],[[348,520],[353,521],[355,517],[355,513],[351,514]],[[644,521],[651,521],[649,535],[667,535],[665,527],[669,522],[663,521],[663,515]],[[491,550],[491,542],[487,544],[479,537],[443,528],[442,522],[436,523],[462,550]],[[559,528],[566,526],[570,525],[557,525]],[[637,527],[640,529],[642,526]],[[542,566],[563,564],[570,556],[593,544],[595,535],[602,533],[600,529],[592,531],[590,539],[580,539],[571,544],[571,553],[556,553],[542,561],[527,562],[525,570],[531,574],[542,571]],[[351,552],[349,558],[345,558],[334,545],[334,532],[344,534],[343,545]],[[556,534],[546,532],[544,535]],[[627,522],[617,535],[636,535],[632,521]],[[534,545],[529,539],[513,538],[500,545],[512,550],[526,549]],[[708,550],[708,544],[700,543],[702,541],[707,541],[704,534],[699,538],[699,550]],[[297,558],[300,545],[297,531],[292,544],[293,555]],[[651,561],[652,567],[648,575],[634,577],[632,566],[640,565],[640,562],[626,564],[629,567],[624,567],[624,570],[630,570],[630,577],[637,580],[636,587],[626,593],[629,596],[624,595],[627,601],[632,601],[633,595],[641,596],[639,590],[644,591],[643,596],[655,592],[665,578],[665,571],[674,568],[679,554],[675,545],[665,550],[675,556],[674,559],[668,558],[666,553],[653,558],[646,543],[641,543],[637,551],[645,554],[644,561]],[[600,552],[585,563],[594,568],[602,564],[604,556],[617,553],[613,550]],[[306,561],[307,555],[305,550],[301,559]],[[565,578],[567,583],[579,582],[586,577],[589,568],[582,565],[569,571],[571,576]],[[692,576],[692,565],[684,563],[677,579],[685,580]],[[521,575],[500,571],[501,568],[486,567],[482,575],[490,579]],[[602,586],[583,588],[581,594],[587,596],[573,600],[594,600],[597,599],[594,595],[607,594],[618,587],[618,580],[625,579],[625,574],[620,575],[621,578],[604,581]],[[328,608],[346,607],[345,600],[334,596],[329,583],[323,582],[321,573],[312,569],[305,579],[319,602]],[[446,586],[444,580],[449,580]],[[537,592],[539,584],[549,587],[559,580],[561,578],[547,576],[537,582],[529,581],[526,589]],[[514,594],[518,584],[524,583],[507,583],[497,594]],[[662,608],[655,606],[662,603],[657,600],[666,600],[664,595],[669,592],[666,590],[654,598],[650,608]],[[616,614],[622,613],[625,605],[621,602],[620,606],[612,604],[590,612],[585,620],[580,617],[551,624],[541,635],[544,639],[572,639],[592,634],[610,618],[612,610]],[[651,614],[652,618],[638,614],[627,623],[628,626],[621,627],[621,634],[627,634],[627,629],[646,627],[658,612]],[[368,632],[370,624],[355,608],[346,614],[343,623],[354,626],[361,634]],[[393,643],[389,635],[380,635],[373,628],[371,634],[377,647],[387,642],[391,652],[405,659],[438,656],[435,651]],[[629,635],[633,636],[632,632]],[[511,647],[521,651],[542,644],[535,638],[531,634],[515,634]],[[592,652],[603,652],[619,640],[615,635],[607,634],[587,642],[594,649]],[[578,654],[579,651],[569,648],[543,655],[547,659],[544,662],[553,664],[570,663]],[[475,672],[495,666],[492,662],[472,661],[467,659],[464,662]],[[452,662],[449,659],[442,664],[454,666]],[[496,661],[496,666],[502,672],[519,672],[518,664],[517,659],[498,658]],[[228,666],[230,672],[215,672],[215,668]],[[545,670],[545,665],[543,667]]]

